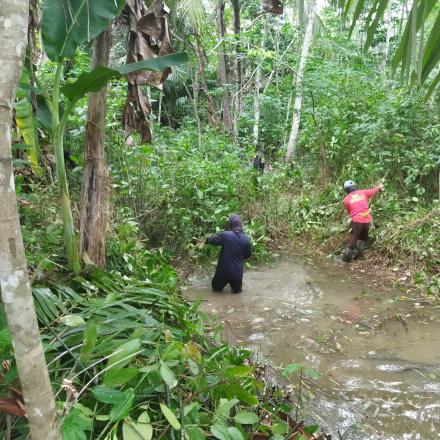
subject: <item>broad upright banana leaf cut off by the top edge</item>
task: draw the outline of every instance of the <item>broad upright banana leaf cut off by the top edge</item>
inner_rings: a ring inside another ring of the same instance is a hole
[[[99,35],[118,15],[123,0],[44,0],[41,34],[52,61],[72,57],[78,45]]]

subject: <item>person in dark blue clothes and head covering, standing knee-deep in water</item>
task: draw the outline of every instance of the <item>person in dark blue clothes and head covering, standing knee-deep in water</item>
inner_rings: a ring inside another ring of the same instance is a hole
[[[240,293],[243,283],[243,261],[251,257],[251,242],[243,232],[241,217],[229,217],[229,231],[219,232],[207,239],[213,245],[221,246],[217,268],[212,279],[212,290],[221,292],[229,283],[233,293]]]

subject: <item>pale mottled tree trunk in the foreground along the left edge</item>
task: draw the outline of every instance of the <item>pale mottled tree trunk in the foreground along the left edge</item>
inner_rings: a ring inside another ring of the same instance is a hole
[[[23,67],[29,2],[0,1],[0,285],[33,440],[59,439],[26,267],[11,157],[12,104]]]

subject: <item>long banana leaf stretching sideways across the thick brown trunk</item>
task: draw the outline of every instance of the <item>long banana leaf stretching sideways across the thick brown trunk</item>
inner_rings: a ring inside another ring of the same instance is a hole
[[[98,92],[112,78],[119,78],[122,75],[126,75],[127,73],[132,73],[137,70],[161,71],[168,67],[184,64],[187,62],[187,60],[188,55],[186,53],[178,52],[172,55],[165,55],[163,57],[153,58],[150,60],[125,64],[117,69],[97,67],[91,72],[81,74],[75,82],[66,84],[64,87],[62,87],[61,92],[69,99],[69,101],[76,102],[86,93]]]

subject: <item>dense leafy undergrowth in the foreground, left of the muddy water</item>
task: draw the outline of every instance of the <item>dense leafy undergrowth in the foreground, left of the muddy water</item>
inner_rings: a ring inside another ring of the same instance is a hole
[[[223,344],[212,319],[175,292],[94,270],[87,278],[35,287],[34,295],[65,408],[63,438],[170,439],[170,430],[185,429],[195,439],[211,431],[244,440],[260,428],[258,411],[269,402],[245,365],[251,353]],[[5,325],[1,359],[15,371]],[[279,397],[270,403],[274,423],[282,423],[285,410]],[[25,433],[24,424],[18,421]]]

